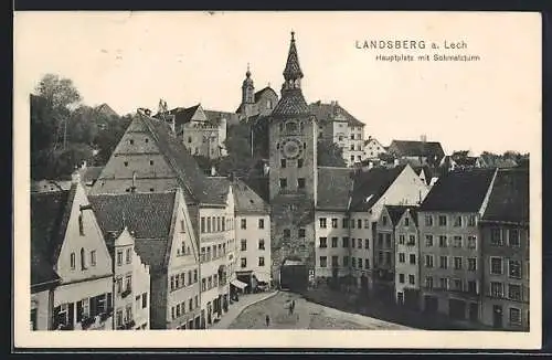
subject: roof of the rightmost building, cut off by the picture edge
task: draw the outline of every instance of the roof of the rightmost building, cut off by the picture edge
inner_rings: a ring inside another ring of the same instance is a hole
[[[498,170],[482,220],[529,223],[528,169]]]

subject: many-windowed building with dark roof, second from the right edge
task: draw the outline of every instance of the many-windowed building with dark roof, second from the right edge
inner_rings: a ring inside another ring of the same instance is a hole
[[[439,178],[418,211],[422,309],[455,320],[481,319],[481,220],[496,170]]]

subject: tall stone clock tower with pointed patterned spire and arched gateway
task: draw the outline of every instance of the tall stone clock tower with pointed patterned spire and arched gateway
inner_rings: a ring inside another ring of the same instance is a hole
[[[294,32],[283,74],[282,98],[268,125],[274,278],[288,257],[300,258],[314,269],[318,126],[302,96]]]

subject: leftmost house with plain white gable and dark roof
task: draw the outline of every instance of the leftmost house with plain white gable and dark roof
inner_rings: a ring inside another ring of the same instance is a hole
[[[31,224],[32,248],[44,260],[44,269],[49,268],[44,283],[52,284],[59,277],[53,295],[49,293],[53,309],[46,328],[112,329],[112,257],[79,179],[74,179],[68,191],[32,194]],[[36,310],[40,328],[44,328],[46,314],[42,310],[46,296],[42,295],[36,306],[41,309],[40,317]]]

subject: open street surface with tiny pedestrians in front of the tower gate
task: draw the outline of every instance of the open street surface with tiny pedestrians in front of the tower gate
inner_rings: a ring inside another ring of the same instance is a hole
[[[295,300],[295,311],[289,306]],[[269,326],[266,326],[266,315]],[[293,293],[280,292],[268,299],[247,307],[229,329],[333,329],[333,330],[410,330],[402,325],[375,318],[343,313],[333,308],[305,300]]]

